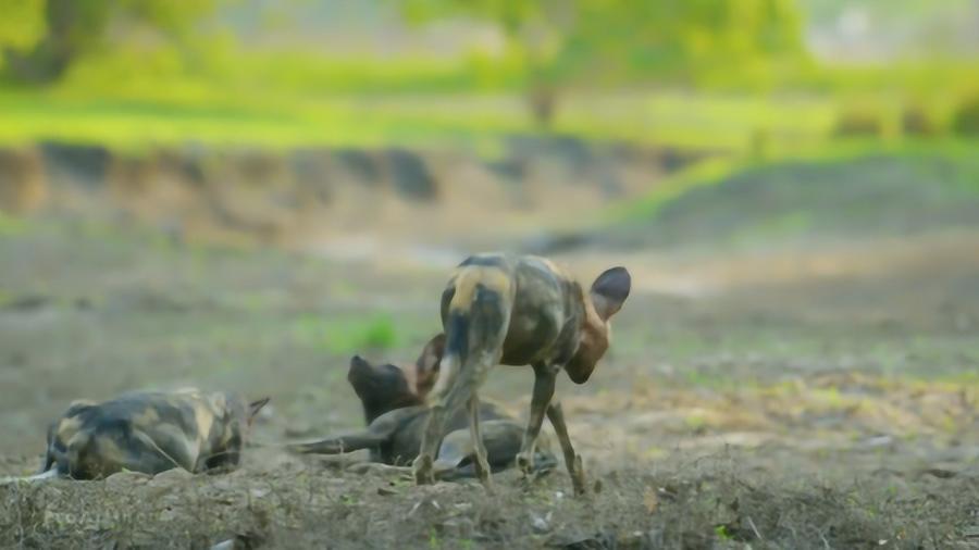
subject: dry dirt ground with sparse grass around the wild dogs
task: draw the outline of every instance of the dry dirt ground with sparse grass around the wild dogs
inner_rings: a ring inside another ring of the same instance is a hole
[[[361,424],[349,355],[412,360],[438,329],[451,254],[338,260],[63,221],[2,232],[0,475],[35,471],[76,398],[272,397],[232,474],[0,487],[2,547],[979,548],[976,233],[559,258],[636,282],[596,375],[559,383],[592,486],[574,498],[562,467],[487,493],[281,450]],[[499,367],[485,393],[523,416],[530,384]]]

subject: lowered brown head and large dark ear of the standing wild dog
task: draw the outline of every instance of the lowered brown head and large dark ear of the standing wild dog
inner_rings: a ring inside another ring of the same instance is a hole
[[[582,292],[581,339],[574,357],[565,365],[573,383],[587,382],[595,364],[605,355],[611,338],[609,320],[622,309],[631,287],[632,277],[625,267],[612,267],[599,275],[587,292]]]

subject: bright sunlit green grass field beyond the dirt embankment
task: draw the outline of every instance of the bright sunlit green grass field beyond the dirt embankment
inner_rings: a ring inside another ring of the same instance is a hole
[[[119,53],[79,64],[50,89],[0,87],[0,143],[469,145],[492,155],[500,136],[541,132],[528,114],[519,67],[506,64],[491,72],[472,59],[352,63],[302,55],[201,63],[206,77],[179,60]],[[910,108],[925,109],[946,133],[950,112],[971,91],[970,68],[798,67],[767,83],[697,91],[577,86],[559,96],[549,132],[719,152],[797,152],[820,146],[841,116],[859,112],[879,120],[881,139],[894,141]]]

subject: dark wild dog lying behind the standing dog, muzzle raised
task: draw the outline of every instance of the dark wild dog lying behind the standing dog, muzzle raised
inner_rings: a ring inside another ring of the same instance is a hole
[[[414,365],[401,368],[393,364],[373,365],[359,355],[350,360],[347,380],[363,405],[368,427],[354,434],[297,443],[289,448],[300,453],[337,454],[370,449],[371,461],[388,465],[407,464],[418,455],[429,409],[424,398],[438,374],[438,361],[445,336],[438,335],[425,346]],[[520,449],[523,427],[492,403],[480,403],[487,462],[494,472],[511,466]],[[473,448],[466,429],[463,411],[449,418],[450,432],[438,449],[435,475],[441,479],[473,476]],[[553,454],[541,450],[536,457],[543,470],[556,463]]]

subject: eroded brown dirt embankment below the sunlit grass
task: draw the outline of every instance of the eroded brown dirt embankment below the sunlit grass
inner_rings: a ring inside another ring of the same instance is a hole
[[[573,138],[511,137],[494,160],[406,149],[0,149],[0,210],[97,215],[174,238],[296,243],[474,225],[517,229],[635,196],[694,155]],[[559,204],[554,197],[560,197]],[[424,224],[419,224],[424,220]],[[423,227],[422,227],[423,226]]]

